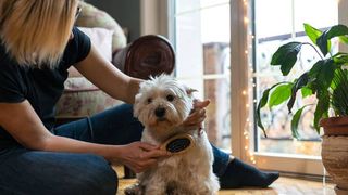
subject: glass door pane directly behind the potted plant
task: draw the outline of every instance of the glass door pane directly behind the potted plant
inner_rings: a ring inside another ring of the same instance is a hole
[[[311,51],[312,48],[303,48],[299,55],[300,61],[295,65],[298,68],[284,78],[279,76],[277,67],[270,66],[276,49],[290,41],[310,42],[304,35],[304,23],[320,30],[337,25],[340,4],[337,0],[254,0],[252,4],[254,95],[259,100],[263,90],[277,81],[291,80],[291,77],[306,72],[307,67],[320,57]],[[338,48],[337,42],[333,44]],[[306,104],[315,103],[313,96],[304,101]],[[299,107],[302,104],[303,102],[296,102],[295,106]],[[286,105],[272,110],[265,108],[261,118],[265,123],[268,138],[254,126],[257,165],[287,172],[323,174],[320,158],[321,136],[312,122],[314,109],[313,106],[303,110],[299,125],[300,139],[296,140],[291,136],[291,116]],[[281,166],[282,164],[284,166]]]

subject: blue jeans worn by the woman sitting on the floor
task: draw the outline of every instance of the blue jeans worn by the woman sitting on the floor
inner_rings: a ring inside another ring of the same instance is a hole
[[[139,141],[144,127],[124,104],[90,118],[59,126],[57,135],[102,144]],[[222,176],[228,154],[213,146],[213,170]],[[117,176],[109,162],[94,154],[41,152],[20,145],[0,151],[0,194],[114,195]]]

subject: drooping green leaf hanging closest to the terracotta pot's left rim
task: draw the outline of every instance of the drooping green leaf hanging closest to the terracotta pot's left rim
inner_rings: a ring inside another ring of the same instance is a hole
[[[330,98],[328,98],[328,92],[327,91],[320,91],[316,93],[316,107],[314,110],[314,128],[318,133],[320,133],[320,126],[319,121],[327,116],[328,113],[328,106],[330,106]]]

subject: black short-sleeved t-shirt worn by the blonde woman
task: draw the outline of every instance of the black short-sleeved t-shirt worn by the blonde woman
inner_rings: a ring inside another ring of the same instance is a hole
[[[0,102],[20,103],[27,100],[45,127],[51,130],[54,126],[54,106],[64,90],[67,68],[84,60],[90,51],[89,38],[76,27],[73,34],[74,38],[69,41],[54,69],[20,66],[0,44]],[[0,150],[14,143],[16,141],[0,126]]]

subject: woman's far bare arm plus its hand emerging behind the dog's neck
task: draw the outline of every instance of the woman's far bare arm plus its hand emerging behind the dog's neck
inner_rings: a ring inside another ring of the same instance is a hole
[[[75,67],[111,96],[127,103],[134,103],[134,98],[139,90],[140,79],[132,78],[121,73],[111,63],[105,61],[91,46],[87,57],[79,62]],[[196,101],[195,112],[184,121],[183,126],[187,129],[201,128],[206,119],[206,107],[210,101]]]

